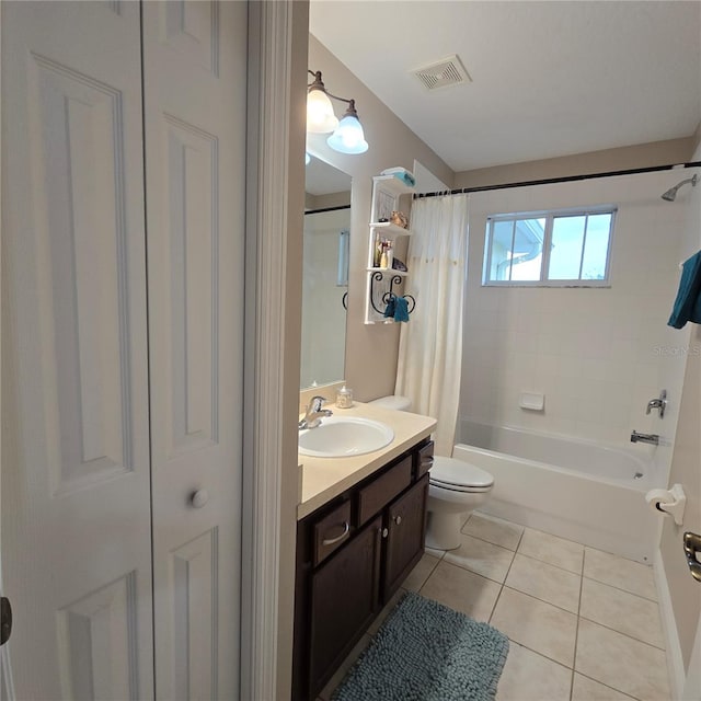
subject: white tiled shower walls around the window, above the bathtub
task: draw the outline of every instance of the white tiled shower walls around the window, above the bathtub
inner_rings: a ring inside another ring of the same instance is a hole
[[[696,225],[683,193],[674,204],[659,195],[687,176],[667,171],[471,196],[462,422],[629,446],[633,428],[674,438],[674,416],[662,425],[645,406],[664,382],[675,414],[681,389],[688,332],[666,323]],[[489,215],[602,204],[618,206],[610,288],[481,286]],[[544,393],[544,412],[519,409],[524,391]]]

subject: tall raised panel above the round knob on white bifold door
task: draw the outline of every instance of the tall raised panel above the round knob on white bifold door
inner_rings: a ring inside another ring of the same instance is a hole
[[[219,231],[215,182],[217,139],[193,125],[164,117],[168,135],[169,269],[171,300],[169,457],[218,441],[217,348],[219,318],[216,252]]]

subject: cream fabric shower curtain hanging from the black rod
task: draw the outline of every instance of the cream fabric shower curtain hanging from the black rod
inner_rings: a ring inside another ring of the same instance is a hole
[[[469,195],[412,206],[409,271],[416,308],[402,325],[395,393],[438,420],[436,455],[451,456],[460,402]]]

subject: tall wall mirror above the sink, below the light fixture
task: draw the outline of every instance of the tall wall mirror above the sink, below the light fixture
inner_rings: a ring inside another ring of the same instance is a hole
[[[312,156],[306,192],[301,389],[344,379],[350,176]]]

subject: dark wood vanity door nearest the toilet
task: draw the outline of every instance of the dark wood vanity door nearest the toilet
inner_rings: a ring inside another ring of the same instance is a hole
[[[424,552],[428,475],[388,507],[382,600],[387,601]]]

